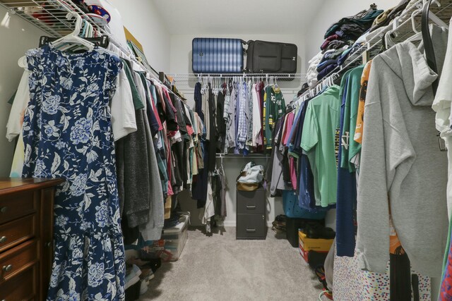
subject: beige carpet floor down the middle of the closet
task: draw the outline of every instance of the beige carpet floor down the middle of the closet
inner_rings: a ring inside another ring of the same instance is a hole
[[[177,262],[162,264],[140,300],[319,300],[321,284],[298,249],[268,230],[266,240],[235,240],[189,228]]]

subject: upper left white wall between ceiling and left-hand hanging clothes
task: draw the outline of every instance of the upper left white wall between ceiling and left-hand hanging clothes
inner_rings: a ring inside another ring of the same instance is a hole
[[[121,13],[124,26],[143,45],[150,66],[169,70],[169,33],[153,1],[109,0]]]

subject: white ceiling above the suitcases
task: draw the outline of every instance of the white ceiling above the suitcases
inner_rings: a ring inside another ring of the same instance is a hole
[[[299,34],[324,0],[153,0],[170,35]]]

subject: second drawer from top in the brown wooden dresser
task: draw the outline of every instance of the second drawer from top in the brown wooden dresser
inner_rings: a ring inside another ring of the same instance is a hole
[[[0,226],[0,252],[37,235],[36,214]]]

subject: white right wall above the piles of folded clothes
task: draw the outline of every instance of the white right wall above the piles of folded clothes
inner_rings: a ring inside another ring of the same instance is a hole
[[[323,1],[317,16],[313,19],[311,26],[306,30],[306,54],[307,61],[320,51],[323,43],[323,35],[326,30],[340,20],[340,18],[353,16],[359,11],[369,8],[369,4],[375,3],[378,9],[386,9],[396,6],[400,0],[375,0],[375,1]]]

